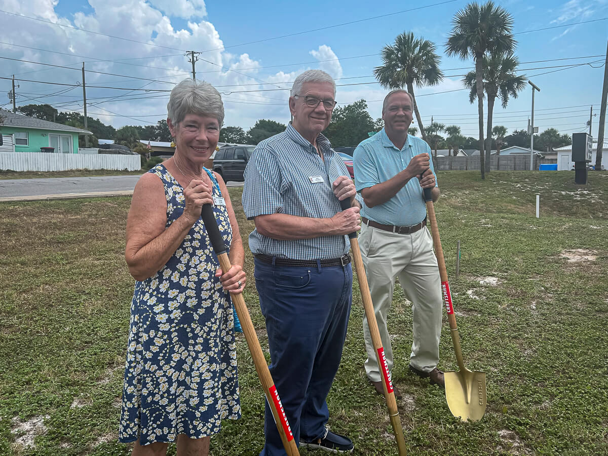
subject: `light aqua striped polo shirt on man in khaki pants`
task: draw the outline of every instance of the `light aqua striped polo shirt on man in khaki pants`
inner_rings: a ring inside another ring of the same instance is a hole
[[[430,147],[422,139],[407,135],[407,141],[399,150],[390,141],[382,128],[374,136],[363,140],[353,154],[354,183],[357,192],[395,177],[399,171],[407,168],[410,160],[418,154],[428,153]],[[430,170],[435,174],[433,159],[430,158]],[[435,176],[437,187],[437,176]],[[420,181],[410,179],[393,198],[375,207],[365,206],[363,198],[361,216],[385,225],[413,226],[426,217],[426,204],[423,198]]]

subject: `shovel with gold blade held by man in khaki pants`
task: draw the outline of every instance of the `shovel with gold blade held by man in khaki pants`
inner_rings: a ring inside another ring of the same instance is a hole
[[[463,421],[479,421],[486,412],[486,374],[485,372],[468,370],[465,366],[465,361],[462,359],[454,305],[452,305],[450,286],[447,283],[446,262],[443,258],[437,218],[435,217],[435,207],[430,196],[430,190],[430,188],[424,188],[424,201],[426,201],[426,212],[429,216],[435,256],[439,265],[443,303],[446,306],[447,318],[450,322],[450,333],[452,334],[452,342],[454,343],[454,353],[456,354],[456,361],[460,369],[457,372],[444,372],[447,407],[449,407],[452,415],[457,418],[460,417]]]

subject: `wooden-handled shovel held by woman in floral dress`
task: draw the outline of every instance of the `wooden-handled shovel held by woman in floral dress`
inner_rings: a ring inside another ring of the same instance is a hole
[[[219,233],[218,223],[215,216],[213,216],[213,208],[210,204],[203,204],[201,217],[207,229],[213,251],[218,256],[219,266],[223,272],[226,272],[230,269],[232,264],[230,264],[230,259],[226,253],[226,246]],[[266,400],[268,400],[268,404],[272,410],[272,416],[274,416],[274,422],[277,425],[278,434],[281,436],[285,452],[288,456],[299,456],[300,452],[295,444],[294,435],[291,432],[291,427],[289,427],[285,410],[283,410],[283,405],[281,404],[281,399],[278,397],[277,389],[274,385],[274,381],[272,381],[270,371],[268,370],[266,358],[264,358],[264,353],[260,347],[260,341],[255,333],[254,324],[251,322],[251,317],[249,316],[249,310],[243,299],[243,294],[230,293],[230,296],[232,297],[234,308],[237,310],[241,326],[243,326],[243,334],[245,335],[245,340],[247,340],[247,347],[249,347],[251,358],[254,360],[255,370],[258,372],[258,377],[260,378],[260,382],[264,389]]]

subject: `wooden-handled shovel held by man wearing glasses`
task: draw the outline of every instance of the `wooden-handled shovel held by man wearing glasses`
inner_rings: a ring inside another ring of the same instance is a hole
[[[347,210],[350,207],[350,199],[343,199],[340,201],[340,207],[342,207],[342,210]],[[350,239],[350,250],[353,255],[354,269],[357,271],[357,277],[359,279],[359,290],[361,291],[365,316],[367,317],[367,323],[370,327],[371,342],[376,350],[378,366],[382,371],[382,389],[384,389],[386,405],[389,407],[390,424],[393,426],[393,432],[395,433],[399,456],[406,456],[406,440],[403,437],[403,429],[401,428],[401,418],[399,418],[395,391],[393,390],[393,383],[390,380],[389,367],[386,358],[384,357],[384,347],[382,347],[382,339],[380,338],[380,331],[378,331],[378,322],[376,321],[376,314],[374,313],[374,305],[371,302],[370,286],[367,284],[367,275],[365,275],[361,250],[359,250],[357,232],[350,233],[348,238]]]

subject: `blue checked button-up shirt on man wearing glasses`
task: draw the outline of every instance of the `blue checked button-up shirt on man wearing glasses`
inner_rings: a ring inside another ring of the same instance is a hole
[[[274,213],[331,218],[340,212],[331,184],[339,176],[348,176],[348,170],[322,134],[317,137],[317,145],[325,162],[290,123],[283,133],[264,139],[255,147],[245,168],[243,185],[243,209],[248,219]],[[277,240],[254,230],[249,235],[249,249],[254,255],[328,260],[346,255],[350,243],[348,237],[340,235]]]

